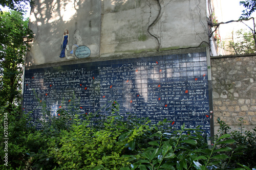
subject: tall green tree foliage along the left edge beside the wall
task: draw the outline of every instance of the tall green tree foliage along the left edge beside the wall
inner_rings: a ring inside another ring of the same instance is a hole
[[[0,105],[18,104],[27,44],[24,36],[32,36],[28,19],[11,11],[0,14]]]

